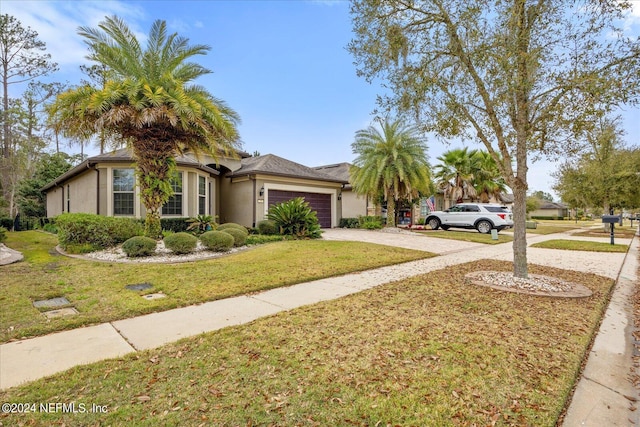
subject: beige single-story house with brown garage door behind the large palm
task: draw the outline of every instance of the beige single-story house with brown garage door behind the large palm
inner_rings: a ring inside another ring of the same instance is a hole
[[[174,195],[163,217],[217,215],[218,221],[254,227],[269,206],[304,197],[322,227],[337,227],[342,217],[342,189],[348,180],[273,154],[237,158],[176,157]],[[90,157],[42,188],[47,217],[63,212],[144,218],[131,152],[120,149]]]

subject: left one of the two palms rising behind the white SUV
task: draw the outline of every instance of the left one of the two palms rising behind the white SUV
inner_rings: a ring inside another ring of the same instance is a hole
[[[438,157],[441,163],[435,166],[435,179],[438,187],[444,191],[445,197],[456,202],[464,199],[474,201],[477,198],[473,186],[476,152],[477,150],[469,151],[467,147],[456,148]]]

